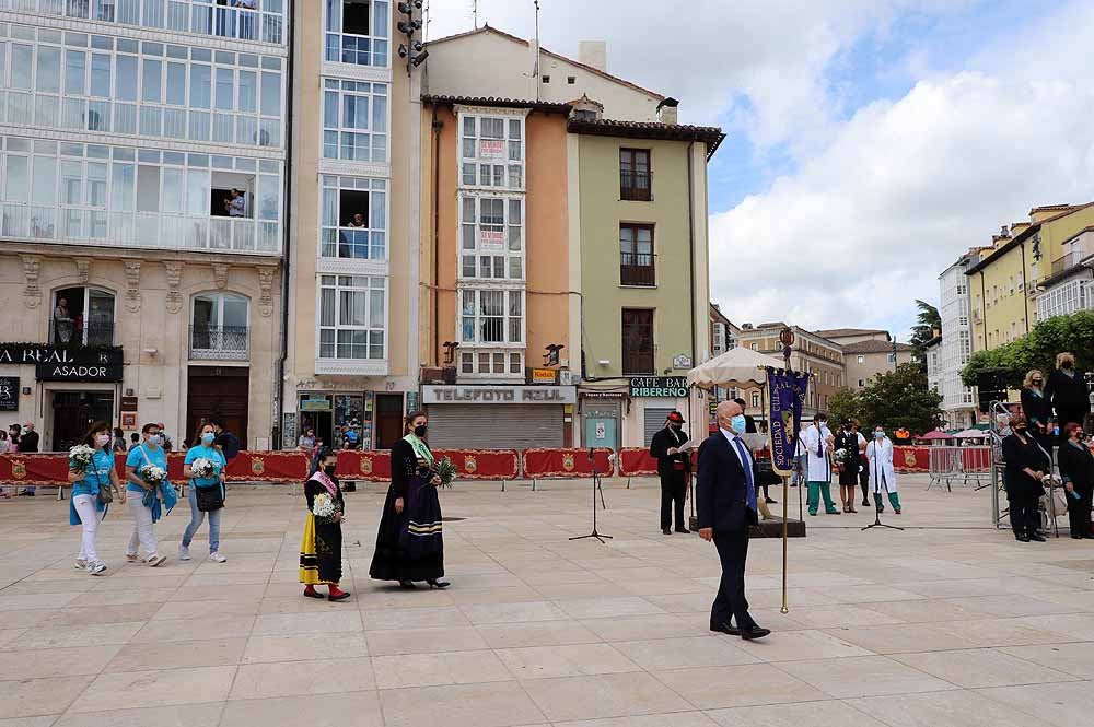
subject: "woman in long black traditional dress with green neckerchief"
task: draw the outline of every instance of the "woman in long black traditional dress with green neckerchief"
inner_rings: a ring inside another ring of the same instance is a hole
[[[424,581],[430,588],[447,588],[444,575],[444,541],[441,537],[441,484],[433,453],[426,444],[426,414],[407,414],[406,436],[392,447],[392,486],[376,533],[376,552],[369,575],[377,581],[398,581],[414,588]]]

